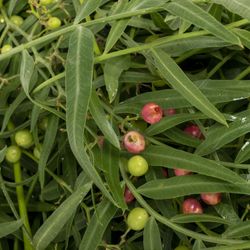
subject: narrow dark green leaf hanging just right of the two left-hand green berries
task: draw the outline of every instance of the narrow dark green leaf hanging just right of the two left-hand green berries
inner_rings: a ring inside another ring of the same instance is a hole
[[[51,153],[51,150],[53,148],[57,129],[58,129],[58,122],[59,118],[55,115],[51,115],[48,120],[48,127],[45,132],[44,140],[43,140],[43,146],[41,150],[41,156],[38,163],[38,174],[39,174],[39,181],[41,188],[44,186],[44,172],[46,163],[49,159],[49,155]]]

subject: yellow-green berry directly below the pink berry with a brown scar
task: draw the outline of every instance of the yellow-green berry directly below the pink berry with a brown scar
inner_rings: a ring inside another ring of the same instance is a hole
[[[128,171],[133,176],[142,176],[148,171],[148,163],[142,156],[135,155],[128,160]]]

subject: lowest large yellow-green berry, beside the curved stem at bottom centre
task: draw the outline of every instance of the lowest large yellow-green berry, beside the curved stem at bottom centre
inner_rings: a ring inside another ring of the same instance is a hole
[[[145,227],[148,218],[148,213],[144,208],[136,207],[128,214],[127,225],[130,229],[139,231]]]

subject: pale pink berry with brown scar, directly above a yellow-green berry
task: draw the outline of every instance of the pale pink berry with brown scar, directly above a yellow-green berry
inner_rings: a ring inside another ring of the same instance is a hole
[[[123,138],[124,147],[128,152],[138,154],[145,149],[145,139],[137,131],[129,131]]]

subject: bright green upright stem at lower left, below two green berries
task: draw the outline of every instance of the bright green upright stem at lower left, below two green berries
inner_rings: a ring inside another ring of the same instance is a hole
[[[20,162],[13,164],[13,168],[14,168],[15,182],[16,183],[22,182],[22,171],[21,171]],[[24,224],[26,230],[31,235],[31,229],[30,229],[30,225],[29,225],[29,219],[28,219],[27,207],[26,207],[25,198],[24,198],[23,186],[16,186],[16,194],[17,194],[17,201],[18,201],[20,217],[23,220],[23,224]],[[25,250],[33,250],[34,249],[30,240],[28,239],[28,237],[26,235],[26,232],[24,232],[24,231],[23,231],[23,241],[24,241],[24,249]]]

